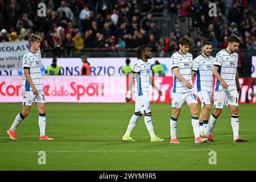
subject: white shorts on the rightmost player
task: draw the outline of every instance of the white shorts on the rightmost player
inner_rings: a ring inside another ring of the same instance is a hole
[[[239,94],[237,90],[231,92],[215,91],[214,93],[214,108],[223,109],[228,105],[238,106]]]

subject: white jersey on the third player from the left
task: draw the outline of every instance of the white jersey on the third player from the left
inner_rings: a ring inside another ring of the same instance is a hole
[[[193,56],[189,52],[186,53],[185,55],[181,55],[181,53],[177,51],[171,57],[171,68],[172,69],[176,67],[179,68],[180,75],[183,76],[187,81],[191,82],[191,84],[192,84],[192,78],[191,78],[192,60],[193,60]],[[188,89],[187,86],[185,86],[184,83],[174,75],[174,81],[173,81],[173,87],[172,87],[173,93],[187,93],[193,90],[194,90],[193,88]]]

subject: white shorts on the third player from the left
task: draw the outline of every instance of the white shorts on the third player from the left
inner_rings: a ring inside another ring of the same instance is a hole
[[[195,92],[172,93],[172,107],[181,108],[185,101],[187,105],[192,103],[197,104],[197,94]]]

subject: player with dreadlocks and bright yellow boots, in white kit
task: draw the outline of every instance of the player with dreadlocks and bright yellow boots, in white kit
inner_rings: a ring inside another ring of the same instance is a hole
[[[164,139],[156,137],[154,133],[154,127],[151,121],[151,109],[150,101],[148,99],[149,86],[152,85],[159,94],[162,96],[162,91],[158,89],[155,85],[154,80],[152,80],[150,72],[150,63],[147,62],[148,59],[152,58],[151,48],[142,45],[137,49],[137,62],[133,65],[131,73],[129,75],[128,91],[126,94],[126,102],[131,100],[131,87],[133,86],[133,96],[135,98],[135,112],[130,119],[129,125],[127,127],[125,135],[123,135],[123,141],[135,141],[131,138],[131,131],[133,131],[138,119],[144,114],[144,123],[147,127],[148,133],[151,137],[151,142],[161,142]]]

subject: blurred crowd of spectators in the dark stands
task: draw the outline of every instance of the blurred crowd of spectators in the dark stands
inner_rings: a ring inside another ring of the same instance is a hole
[[[46,4],[46,17],[38,16],[38,3]],[[217,5],[217,16],[209,16],[209,3]],[[240,48],[256,49],[256,1],[254,0],[0,0],[0,42],[42,36],[43,50],[56,54],[81,52],[85,48],[125,50],[148,44],[154,52],[175,52],[181,36],[160,36],[161,25],[152,17],[191,17],[198,27],[192,48],[204,41],[225,48],[228,36],[242,39]]]

